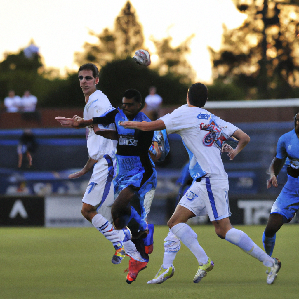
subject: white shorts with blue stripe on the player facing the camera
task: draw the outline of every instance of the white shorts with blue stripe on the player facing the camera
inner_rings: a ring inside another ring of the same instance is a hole
[[[114,168],[115,161],[112,161],[110,156],[100,158],[94,165],[93,173],[82,199],[82,202],[96,207],[97,212],[110,223],[113,222],[111,206],[114,202]]]

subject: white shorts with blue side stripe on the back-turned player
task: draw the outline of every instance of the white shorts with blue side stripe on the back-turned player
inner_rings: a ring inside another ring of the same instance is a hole
[[[228,179],[202,178],[194,182],[181,198],[179,205],[196,216],[207,215],[210,221],[231,216],[228,203]]]

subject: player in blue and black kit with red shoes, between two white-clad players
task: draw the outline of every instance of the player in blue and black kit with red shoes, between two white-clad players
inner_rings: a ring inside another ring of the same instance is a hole
[[[115,123],[116,131],[97,130],[98,135],[118,140],[117,162],[118,174],[114,179],[117,198],[112,205],[112,218],[116,229],[128,226],[132,233],[132,242],[139,251],[142,260],[129,261],[127,283],[137,277],[139,271],[146,267],[148,254],[152,251],[153,225],[147,224],[147,213],[155,194],[157,173],[152,158],[157,161],[159,155],[166,155],[168,141],[166,131],[147,131],[125,129],[122,121],[150,121],[140,110],[143,108],[139,91],[128,89],[123,94],[122,110],[112,111],[103,117],[93,118],[93,123],[107,125]],[[164,134],[163,134],[164,133]],[[159,137],[158,137],[159,136]],[[157,138],[157,139],[156,139]],[[156,140],[156,142],[155,142]],[[154,146],[152,146],[152,141]],[[159,149],[158,142],[165,143],[165,149]],[[149,155],[149,148],[156,155]],[[160,159],[163,157],[160,157]]]

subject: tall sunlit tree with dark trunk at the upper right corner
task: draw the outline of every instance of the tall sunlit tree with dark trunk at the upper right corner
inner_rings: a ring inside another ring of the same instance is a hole
[[[224,26],[219,51],[210,48],[214,80],[243,89],[245,98],[299,95],[299,1],[235,0],[247,19]]]

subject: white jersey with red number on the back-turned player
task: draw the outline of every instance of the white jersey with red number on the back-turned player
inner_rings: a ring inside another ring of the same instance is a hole
[[[223,141],[238,129],[205,109],[187,104],[160,118],[167,134],[181,136],[190,157],[190,175],[193,179],[206,176],[228,179],[221,160]]]

